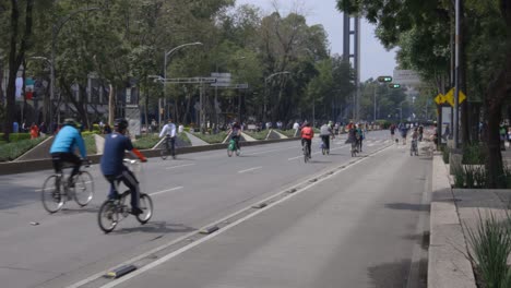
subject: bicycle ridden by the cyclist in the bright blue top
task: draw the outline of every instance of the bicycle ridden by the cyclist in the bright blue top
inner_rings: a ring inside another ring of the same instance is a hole
[[[90,167],[90,161],[83,161],[80,168]],[[74,199],[81,207],[91,203],[94,196],[94,180],[91,173],[80,170],[73,182],[70,184],[69,177],[66,178],[63,172],[51,175],[45,180],[40,196],[47,212],[58,212],[63,207],[66,201],[71,199]]]

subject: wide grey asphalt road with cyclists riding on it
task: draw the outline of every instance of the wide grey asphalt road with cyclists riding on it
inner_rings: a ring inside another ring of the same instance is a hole
[[[36,191],[50,170],[0,177],[1,287],[423,287],[431,160],[388,137],[369,133],[356,158],[344,137],[329,156],[316,140],[309,164],[299,142],[152,158],[140,175],[152,220],[110,235],[98,167],[92,204],[54,215]],[[139,269],[102,277],[126,263]]]

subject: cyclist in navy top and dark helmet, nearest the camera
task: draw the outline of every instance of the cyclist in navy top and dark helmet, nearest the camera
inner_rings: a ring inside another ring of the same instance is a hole
[[[126,130],[128,128],[128,121],[126,119],[116,119],[114,122],[114,132],[105,136],[105,148],[102,157],[102,172],[103,176],[110,183],[110,192],[108,199],[116,199],[119,196],[118,191],[114,181],[119,183],[122,181],[131,192],[131,214],[142,214],[142,209],[139,207],[139,181],[128,167],[124,166],[124,151],[129,151],[130,154],[138,157],[141,161],[147,159],[133,147],[131,140],[127,137]]]

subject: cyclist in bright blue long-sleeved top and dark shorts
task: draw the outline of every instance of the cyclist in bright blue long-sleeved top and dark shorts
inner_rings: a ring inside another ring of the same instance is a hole
[[[57,173],[62,173],[62,166],[64,163],[71,163],[73,165],[73,170],[71,171],[68,182],[69,187],[74,185],[74,176],[80,171],[82,159],[85,160],[87,158],[83,137],[76,127],[78,123],[74,119],[66,119],[62,129],[60,129],[59,133],[55,136],[50,147],[51,160]],[[76,147],[80,151],[82,159],[74,154]]]

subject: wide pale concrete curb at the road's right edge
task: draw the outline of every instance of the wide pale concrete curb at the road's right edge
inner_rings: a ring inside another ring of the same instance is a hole
[[[449,171],[440,155],[433,156],[431,191],[428,288],[476,288]]]

